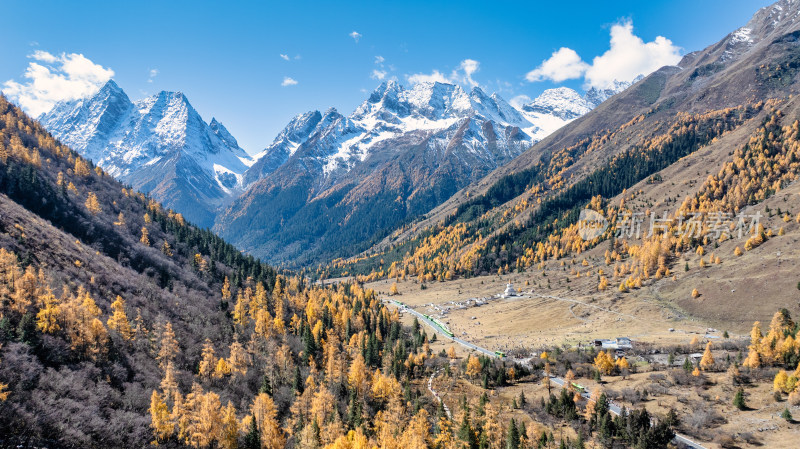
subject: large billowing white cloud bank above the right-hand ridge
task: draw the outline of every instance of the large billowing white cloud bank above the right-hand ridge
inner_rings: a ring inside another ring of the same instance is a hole
[[[639,75],[649,75],[665,66],[680,61],[680,47],[669,39],[658,36],[651,42],[633,34],[633,23],[625,21],[611,27],[610,48],[587,64],[575,50],[562,47],[525,79],[531,82],[550,80],[561,82],[583,78],[586,86],[609,88],[615,80],[630,81]]]

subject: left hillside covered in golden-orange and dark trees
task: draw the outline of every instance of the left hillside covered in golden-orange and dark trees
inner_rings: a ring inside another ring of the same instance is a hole
[[[427,337],[371,291],[276,275],[1,97],[0,192],[0,445],[428,435]]]

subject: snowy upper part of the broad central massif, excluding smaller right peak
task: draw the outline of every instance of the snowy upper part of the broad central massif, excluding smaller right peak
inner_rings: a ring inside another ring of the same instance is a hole
[[[324,114],[310,111],[292,119],[273,143],[256,156],[257,162],[245,173],[245,183],[274,172],[312,136],[318,137],[314,139],[313,152],[320,158],[322,174],[330,175],[346,172],[363,162],[370,149],[382,141],[408,133],[417,134],[416,140],[423,139],[426,133],[447,130],[470,116],[496,124],[494,131],[500,134],[508,126],[531,126],[498,95],[487,96],[477,88],[467,93],[452,84],[420,83],[406,90],[389,81],[372,92],[349,117],[331,109]],[[530,136],[520,135],[519,140],[532,143]],[[303,154],[308,152],[306,149]]]

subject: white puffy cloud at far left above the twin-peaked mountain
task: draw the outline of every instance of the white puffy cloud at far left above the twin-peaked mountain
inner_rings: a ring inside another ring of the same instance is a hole
[[[61,53],[56,56],[36,50],[24,77],[28,82],[8,80],[3,93],[32,116],[49,111],[59,101],[69,101],[95,94],[114,71],[95,64],[82,54]]]

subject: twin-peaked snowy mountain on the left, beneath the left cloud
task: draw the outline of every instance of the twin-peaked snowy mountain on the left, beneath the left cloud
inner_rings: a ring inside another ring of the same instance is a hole
[[[207,226],[252,159],[180,92],[131,101],[114,81],[39,117],[55,137],[188,219]]]

